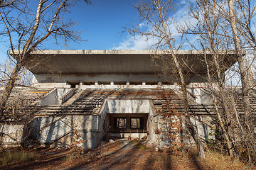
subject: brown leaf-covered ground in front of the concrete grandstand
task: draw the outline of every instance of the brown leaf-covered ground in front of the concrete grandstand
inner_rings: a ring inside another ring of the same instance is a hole
[[[0,169],[255,169],[215,152],[207,152],[201,160],[193,153],[156,152],[132,140],[102,144],[84,154],[57,148],[33,152],[39,155],[35,160]]]

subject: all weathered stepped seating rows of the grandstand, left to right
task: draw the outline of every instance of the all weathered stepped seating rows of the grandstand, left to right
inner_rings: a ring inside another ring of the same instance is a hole
[[[18,86],[11,93],[7,103],[6,111],[31,115],[66,115],[66,114],[97,114],[104,99],[106,98],[131,98],[131,99],[150,99],[154,102],[156,111],[162,110],[168,112],[166,101],[179,113],[183,112],[181,96],[172,90],[159,89],[86,89],[77,91],[63,105],[40,106],[40,99],[48,94],[51,89],[36,89],[31,87]],[[0,93],[3,90],[0,90]],[[165,93],[163,96],[163,93]],[[242,96],[238,89],[234,91],[235,102],[238,112],[242,112]],[[256,90],[250,91],[250,101],[252,108],[256,108]],[[18,108],[17,106],[21,106]],[[191,115],[215,115],[215,108],[212,104],[198,104],[189,101]],[[255,109],[254,109],[255,111]]]

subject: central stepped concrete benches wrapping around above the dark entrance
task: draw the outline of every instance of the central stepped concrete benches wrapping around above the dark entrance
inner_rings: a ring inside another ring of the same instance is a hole
[[[63,114],[97,114],[104,99],[151,99],[154,102],[156,111],[166,108],[166,100],[176,108],[179,113],[183,112],[181,96],[174,91],[164,91],[168,98],[163,99],[163,91],[158,89],[134,90],[134,89],[109,89],[97,90],[90,89],[78,91],[63,105],[41,106],[40,111],[36,115],[63,115]],[[213,114],[214,107],[211,105],[201,105],[190,102],[190,111],[193,115],[210,115]]]

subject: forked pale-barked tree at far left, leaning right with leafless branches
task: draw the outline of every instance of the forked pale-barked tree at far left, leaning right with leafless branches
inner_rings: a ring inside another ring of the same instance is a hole
[[[10,4],[13,4],[16,1],[17,0],[10,1]],[[8,14],[11,13],[11,11],[3,12],[3,13],[1,13],[0,11],[1,22],[4,23],[6,34],[9,35],[9,42],[10,42],[12,55],[16,55],[16,60],[17,60],[17,64],[14,67],[14,70],[11,72],[11,75],[9,76],[9,81],[7,82],[6,89],[4,90],[3,95],[1,96],[1,101],[0,101],[1,117],[4,114],[3,112],[4,112],[4,109],[6,108],[6,103],[11,94],[11,90],[14,87],[15,81],[18,79],[18,73],[21,71],[23,63],[26,62],[26,60],[31,60],[31,59],[28,59],[28,55],[31,52],[33,52],[33,50],[35,50],[36,47],[39,44],[41,44],[41,42],[46,40],[53,33],[55,33],[55,38],[58,36],[63,36],[65,41],[80,40],[77,33],[75,33],[72,29],[70,29],[72,28],[73,23],[70,21],[65,21],[65,19],[63,18],[64,16],[60,16],[60,13],[63,13],[63,9],[64,11],[67,10],[67,8],[74,6],[77,1],[78,0],[70,0],[70,1],[69,0],[61,0],[61,1],[39,0],[38,6],[36,8],[36,16],[34,20],[31,20],[30,18],[26,18],[24,19],[24,21],[22,19],[19,20],[19,18],[13,18],[12,16],[11,17],[8,16]],[[87,4],[90,4],[89,0],[85,0],[85,2]],[[28,6],[29,6],[28,4],[29,4],[28,1],[24,3],[20,3],[19,4],[20,6],[15,6],[14,9],[17,9],[18,13],[21,12],[21,15],[23,15],[23,13],[28,13],[27,10],[29,11],[29,13],[31,13],[30,9],[28,9]],[[2,3],[0,1],[0,7],[2,7],[1,5]],[[4,11],[3,8],[1,9]],[[14,13],[16,14],[17,11],[14,11]],[[48,13],[48,14],[45,14],[45,13]],[[51,16],[51,14],[53,14],[52,18],[47,18],[47,21],[46,21],[46,18],[43,18],[47,15]],[[27,19],[32,21],[31,25],[27,23]],[[42,20],[45,23],[45,25],[43,24],[43,26],[40,27],[41,25],[40,23]],[[13,26],[15,25],[18,25],[17,29],[13,28]],[[39,30],[41,33],[38,34]],[[14,41],[12,40],[13,35],[16,40],[16,45],[14,45]],[[16,46],[18,46],[18,54],[14,52],[14,47]]]

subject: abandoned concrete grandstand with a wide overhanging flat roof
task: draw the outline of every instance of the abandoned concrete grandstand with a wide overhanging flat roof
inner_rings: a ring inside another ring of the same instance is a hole
[[[69,146],[77,135],[85,148],[110,137],[144,137],[165,147],[168,127],[161,113],[168,112],[166,101],[182,113],[181,91],[176,82],[156,74],[161,70],[151,61],[154,54],[148,50],[34,52],[34,62],[43,62],[28,67],[33,85],[14,87],[9,98],[9,107],[22,106],[17,112],[26,117],[1,123],[2,144],[33,140],[41,145]],[[199,135],[208,140],[213,137],[215,113],[203,91],[207,87],[202,78],[206,77],[206,67],[200,62],[203,55],[193,50],[177,55],[196,66],[198,74],[190,73],[187,78],[189,108]],[[232,60],[225,62],[228,67],[236,62],[230,56],[227,58]]]

